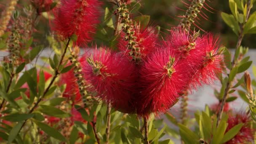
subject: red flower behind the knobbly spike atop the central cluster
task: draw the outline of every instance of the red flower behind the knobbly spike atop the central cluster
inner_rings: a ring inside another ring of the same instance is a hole
[[[139,25],[135,25],[134,36],[138,47],[140,48],[141,58],[144,58],[157,47],[158,35],[155,32],[155,29],[152,27],[147,27],[145,29],[140,29]],[[128,50],[128,41],[125,40],[125,33],[121,33],[119,39],[118,48],[123,53],[129,53],[131,50]]]

